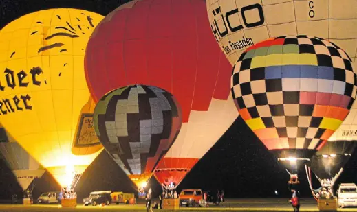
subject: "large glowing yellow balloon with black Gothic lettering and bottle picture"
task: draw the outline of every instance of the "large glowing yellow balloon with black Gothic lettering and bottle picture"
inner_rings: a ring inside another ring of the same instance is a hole
[[[0,123],[61,186],[74,185],[102,150],[91,133],[94,106],[83,65],[102,18],[85,10],[41,10],[0,31]]]

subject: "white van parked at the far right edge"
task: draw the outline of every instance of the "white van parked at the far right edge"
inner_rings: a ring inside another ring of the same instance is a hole
[[[354,183],[342,183],[338,188],[338,207],[357,206],[357,186]]]

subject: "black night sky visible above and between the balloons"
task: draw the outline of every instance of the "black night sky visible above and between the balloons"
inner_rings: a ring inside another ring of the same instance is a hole
[[[0,28],[7,23],[38,10],[50,8],[78,8],[89,10],[105,16],[129,0],[0,0]],[[345,166],[340,182],[357,181],[357,154]],[[305,178],[305,169],[299,175],[302,196],[311,197]],[[238,118],[213,148],[182,181],[181,189],[224,189],[226,197],[288,197],[288,173],[277,159],[266,150],[255,134]],[[155,196],[160,192],[160,185],[155,178],[149,181]],[[314,188],[318,182],[313,182]],[[58,190],[54,179],[47,172],[36,180],[34,198],[46,191]],[[133,183],[124,172],[109,158],[107,152],[102,154],[88,167],[78,182],[76,192],[81,199],[91,191],[111,190],[134,192]],[[0,200],[10,198],[12,193],[21,193],[16,178],[6,163],[0,160]]]

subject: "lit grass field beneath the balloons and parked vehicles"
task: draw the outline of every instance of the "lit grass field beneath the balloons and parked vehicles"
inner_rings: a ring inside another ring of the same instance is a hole
[[[157,201],[157,200],[155,200]],[[65,209],[58,205],[39,205],[34,204],[30,206],[24,206],[20,204],[0,204],[0,211],[21,211],[21,212],[43,212],[43,211],[58,211],[58,212],[69,212],[69,211],[147,211],[145,209],[145,204],[142,201],[138,201],[136,205],[124,205],[124,204],[111,204],[105,207],[84,207],[78,204],[75,209]],[[153,211],[173,211],[173,210],[159,210],[153,209]],[[197,207],[188,208],[182,207],[178,211],[293,211],[292,207],[288,203],[288,198],[244,198],[244,199],[227,199],[226,202],[221,204],[219,207]],[[175,211],[175,212],[176,212]],[[316,207],[316,201],[314,199],[301,199],[301,211],[318,211]],[[351,209],[338,209],[338,211],[357,211],[357,208]]]

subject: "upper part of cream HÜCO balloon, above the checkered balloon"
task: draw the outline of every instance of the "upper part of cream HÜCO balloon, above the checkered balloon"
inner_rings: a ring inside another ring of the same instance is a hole
[[[261,40],[298,34],[325,38],[344,49],[355,61],[356,0],[206,2],[211,31],[231,64]]]

